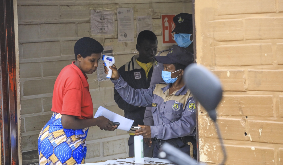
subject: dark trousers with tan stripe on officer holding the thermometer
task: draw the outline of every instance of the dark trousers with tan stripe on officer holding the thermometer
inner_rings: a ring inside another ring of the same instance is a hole
[[[192,150],[191,150],[192,147]],[[196,148],[196,140],[191,140],[190,142],[184,144],[183,146],[176,146],[176,148],[180,149],[181,151],[185,152],[189,156],[193,156],[194,159],[197,159],[197,148]],[[153,157],[158,158],[158,153],[160,149],[160,144],[156,142],[154,149],[153,149]]]

